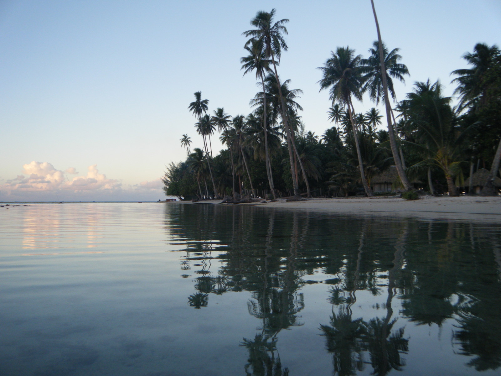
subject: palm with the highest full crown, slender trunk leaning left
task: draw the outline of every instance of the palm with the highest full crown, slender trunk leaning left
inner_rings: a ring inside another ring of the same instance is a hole
[[[293,186],[294,186],[294,195],[295,196],[300,196],[299,194],[299,183],[298,179],[296,178],[296,171],[295,171],[295,163],[294,163],[294,153],[293,153],[293,145],[292,145],[292,130],[289,128],[289,123],[287,119],[287,111],[286,111],[286,104],[284,100],[284,96],[282,95],[282,85],[280,84],[280,79],[279,79],[279,74],[277,72],[277,61],[280,62],[282,50],[287,51],[287,43],[282,36],[282,34],[288,34],[287,28],[284,26],[289,22],[288,19],[282,19],[280,21],[277,21],[276,23],[273,23],[273,18],[275,16],[275,9],[272,9],[270,13],[260,11],[256,14],[256,17],[250,21],[250,25],[256,27],[256,29],[253,30],[247,30],[246,32],[243,32],[242,34],[245,37],[250,37],[250,39],[245,43],[245,46],[248,46],[249,44],[252,44],[253,41],[262,41],[264,44],[264,52],[265,52],[265,57],[271,58],[272,63],[273,63],[273,69],[275,73],[275,78],[277,79],[278,83],[278,90],[279,90],[279,97],[280,97],[280,104],[282,108],[282,114],[283,116],[283,122],[284,122],[284,128],[286,129],[287,133],[287,146],[289,149],[289,159],[291,162],[291,175],[293,176]]]

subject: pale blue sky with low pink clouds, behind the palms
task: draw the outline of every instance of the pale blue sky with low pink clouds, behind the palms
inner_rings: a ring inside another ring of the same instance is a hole
[[[500,45],[499,0],[375,0],[383,41],[400,48],[410,77],[444,85],[478,43]],[[0,201],[164,200],[165,166],[201,147],[188,111],[193,93],[209,112],[252,111],[259,90],[242,77],[242,32],[258,11],[287,18],[279,74],[302,89],[306,130],[332,124],[318,81],[332,50],[357,54],[377,39],[370,0],[0,1]],[[357,112],[374,107],[369,98]],[[384,111],[383,111],[384,112]],[[212,137],[219,150],[218,135]]]

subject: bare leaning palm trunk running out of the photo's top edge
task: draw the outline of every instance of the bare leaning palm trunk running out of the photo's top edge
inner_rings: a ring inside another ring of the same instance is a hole
[[[384,53],[383,53],[383,42],[381,41],[381,33],[379,31],[379,23],[377,21],[376,9],[374,8],[374,1],[371,0],[372,12],[374,13],[374,21],[376,22],[377,29],[377,39],[379,44],[379,60],[381,62],[381,78],[383,81],[383,91],[384,91],[384,103],[386,107],[386,120],[388,122],[388,135],[390,136],[391,153],[393,154],[393,159],[395,160],[395,166],[397,167],[398,176],[400,181],[404,185],[406,191],[412,190],[412,185],[407,179],[407,175],[402,166],[402,161],[398,153],[397,142],[395,140],[395,133],[393,132],[393,124],[391,121],[391,105],[390,98],[388,96],[388,83],[386,81],[386,67],[384,65]]]

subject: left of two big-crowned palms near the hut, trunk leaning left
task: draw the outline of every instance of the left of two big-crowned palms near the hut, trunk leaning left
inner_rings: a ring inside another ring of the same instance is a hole
[[[351,50],[349,47],[338,47],[336,53],[332,52],[332,56],[327,59],[324,66],[318,68],[323,73],[323,78],[319,83],[320,90],[330,88],[329,92],[333,102],[346,106],[353,129],[362,185],[367,196],[374,196],[365,179],[358,144],[357,127],[354,120],[355,110],[352,103],[352,96],[360,101],[362,100],[363,84],[365,82],[364,73],[367,69],[360,65],[361,55],[354,55],[355,50]]]

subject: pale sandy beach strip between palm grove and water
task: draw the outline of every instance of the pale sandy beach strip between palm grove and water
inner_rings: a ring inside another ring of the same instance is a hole
[[[200,201],[194,204],[219,204],[221,200]],[[232,204],[223,204],[232,205]],[[458,219],[501,222],[501,197],[432,197],[406,201],[399,197],[353,197],[334,199],[308,199],[300,202],[277,202],[239,204],[311,210],[333,214],[382,214],[391,216],[418,217],[424,219]]]

